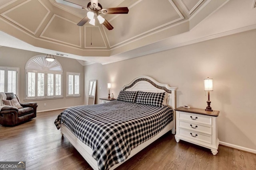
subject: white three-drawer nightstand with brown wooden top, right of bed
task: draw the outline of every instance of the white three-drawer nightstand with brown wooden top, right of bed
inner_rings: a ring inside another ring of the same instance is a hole
[[[218,153],[217,117],[220,111],[178,107],[176,110],[175,140],[194,143]]]

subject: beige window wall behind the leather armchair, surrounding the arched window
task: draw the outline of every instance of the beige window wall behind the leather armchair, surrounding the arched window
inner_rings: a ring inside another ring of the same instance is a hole
[[[19,77],[19,98],[21,102],[24,102],[25,96],[25,64],[26,62],[36,56],[42,55],[42,53],[36,53],[32,51],[14,49],[9,47],[0,47],[0,66],[10,66],[20,68]],[[51,100],[36,100],[38,103],[38,111],[63,108],[68,106],[78,106],[83,104],[84,101],[84,67],[78,63],[75,59],[69,59],[65,57],[55,58],[60,62],[63,69],[63,99],[51,99]],[[66,98],[66,72],[80,72],[81,73],[81,97],[78,98]],[[46,106],[44,106],[46,103]]]

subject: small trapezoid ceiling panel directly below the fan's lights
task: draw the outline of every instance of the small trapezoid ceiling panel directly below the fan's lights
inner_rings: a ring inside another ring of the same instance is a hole
[[[84,48],[92,48],[92,49],[107,48],[102,31],[100,30],[99,26],[85,26],[84,32],[85,32]]]

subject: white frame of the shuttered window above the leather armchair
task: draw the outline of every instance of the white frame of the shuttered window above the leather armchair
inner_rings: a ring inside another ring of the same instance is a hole
[[[8,70],[11,71],[17,71],[16,72],[16,95],[19,96],[19,89],[20,89],[20,68],[19,67],[7,67],[7,66],[0,66],[0,70],[4,70],[4,92],[8,92],[8,74],[6,74],[5,72]]]

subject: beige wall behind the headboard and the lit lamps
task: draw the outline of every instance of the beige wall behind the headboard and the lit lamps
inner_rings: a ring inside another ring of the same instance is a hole
[[[177,107],[188,104],[204,109],[207,94],[203,79],[210,77],[214,80],[211,106],[220,111],[220,141],[255,150],[255,46],[256,29],[118,63],[85,66],[85,96],[89,80],[98,80],[99,103],[99,98],[108,96],[108,82],[117,97],[120,87],[146,75],[178,88]]]

